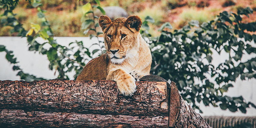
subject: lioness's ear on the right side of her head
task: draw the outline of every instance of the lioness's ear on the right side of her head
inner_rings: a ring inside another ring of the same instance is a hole
[[[127,28],[132,28],[136,31],[140,31],[142,21],[141,21],[140,17],[138,17],[138,16],[130,16],[127,18],[125,23],[126,23]]]

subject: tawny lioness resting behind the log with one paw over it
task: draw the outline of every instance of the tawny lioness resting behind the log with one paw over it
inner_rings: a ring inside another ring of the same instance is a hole
[[[136,91],[135,80],[149,75],[152,57],[140,35],[138,16],[111,21],[99,17],[106,53],[89,61],[76,80],[114,80],[119,92],[131,96]]]

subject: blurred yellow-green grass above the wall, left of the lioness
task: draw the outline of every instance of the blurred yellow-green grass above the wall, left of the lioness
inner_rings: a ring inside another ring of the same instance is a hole
[[[30,23],[41,24],[41,19],[37,17],[36,9],[26,9],[23,7],[16,7],[13,11],[17,13],[17,19],[23,24],[26,30],[30,29]],[[46,19],[49,21],[53,34],[55,36],[84,36],[83,30],[81,30],[81,17],[83,16],[81,7],[78,7],[76,11],[59,11],[47,10],[45,12]],[[0,36],[11,36],[8,32],[11,27],[1,27]]]

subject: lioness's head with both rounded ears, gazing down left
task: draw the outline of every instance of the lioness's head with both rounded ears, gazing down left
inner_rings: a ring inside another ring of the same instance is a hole
[[[111,21],[107,16],[99,17],[108,57],[114,64],[121,64],[139,51],[141,19],[138,16],[118,18]]]

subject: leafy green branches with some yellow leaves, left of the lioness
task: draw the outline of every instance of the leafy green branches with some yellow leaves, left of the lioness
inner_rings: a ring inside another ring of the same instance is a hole
[[[12,1],[10,2],[12,3]],[[77,42],[77,41],[73,43],[79,47],[78,49],[76,49],[75,46],[68,48],[66,46],[62,46],[58,44],[56,39],[54,39],[53,37],[51,26],[48,20],[46,19],[46,16],[44,15],[46,11],[42,10],[39,7],[42,5],[40,1],[35,0],[33,3],[29,1],[29,3],[32,4],[33,7],[37,8],[37,11],[38,11],[37,16],[42,21],[41,25],[31,23],[30,24],[31,28],[28,31],[26,31],[22,27],[21,23],[15,18],[15,14],[13,14],[12,12],[15,9],[16,5],[18,4],[18,1],[16,2],[15,5],[8,4],[8,2],[1,3],[8,6],[4,12],[4,16],[6,17],[6,20],[4,20],[5,22],[3,23],[5,24],[5,26],[8,25],[14,28],[11,32],[17,32],[19,33],[18,36],[27,37],[27,41],[29,44],[29,49],[28,49],[29,51],[36,51],[43,55],[47,55],[48,60],[50,61],[49,68],[59,73],[58,78],[69,79],[67,74],[71,71],[76,72],[76,75],[74,76],[76,78],[78,74],[82,71],[83,67],[85,66],[85,61],[88,60],[87,58],[92,58],[91,53],[89,52],[89,49],[83,46],[84,45],[83,42]],[[92,7],[102,10],[102,12],[104,11],[99,5],[98,6],[93,5]],[[96,32],[96,27],[97,26],[95,26],[94,28],[91,28],[91,30],[95,30]],[[100,35],[100,33],[97,33],[97,37],[98,35]],[[37,37],[42,37],[44,40],[46,40],[46,42],[42,44],[38,43],[36,41]],[[74,45],[73,43],[70,43],[69,46]],[[48,45],[45,46],[46,44],[50,44],[50,48],[45,48],[45,47],[48,47]],[[94,54],[97,51],[99,50],[94,50],[92,54]],[[31,78],[34,78],[34,77],[31,77]],[[26,79],[26,78],[22,77],[21,79]],[[33,80],[36,80],[36,77],[35,79],[29,79],[29,81],[33,81]]]

